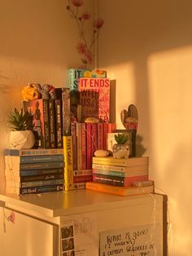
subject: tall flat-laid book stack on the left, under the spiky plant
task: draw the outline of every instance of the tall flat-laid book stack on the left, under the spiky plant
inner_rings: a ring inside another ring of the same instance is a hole
[[[6,193],[63,190],[63,149],[5,149]]]

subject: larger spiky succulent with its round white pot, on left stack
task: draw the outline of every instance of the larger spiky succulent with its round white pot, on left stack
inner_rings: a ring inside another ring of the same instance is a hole
[[[33,148],[35,136],[33,134],[33,115],[15,108],[8,115],[8,123],[11,128],[10,147],[11,148]]]

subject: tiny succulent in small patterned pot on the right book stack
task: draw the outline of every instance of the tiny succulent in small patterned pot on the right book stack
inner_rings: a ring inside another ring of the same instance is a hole
[[[119,134],[115,135],[116,144],[112,147],[113,157],[115,158],[128,158],[129,157],[129,145],[127,141],[128,135]]]

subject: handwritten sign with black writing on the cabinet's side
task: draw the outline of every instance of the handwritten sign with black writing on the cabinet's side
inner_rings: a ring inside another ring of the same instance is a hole
[[[162,225],[127,227],[100,233],[100,256],[163,255]]]

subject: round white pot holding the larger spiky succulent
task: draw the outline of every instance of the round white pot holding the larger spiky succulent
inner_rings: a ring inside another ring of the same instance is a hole
[[[10,147],[15,149],[33,148],[35,136],[32,130],[11,130]]]

